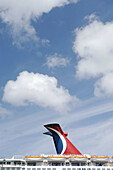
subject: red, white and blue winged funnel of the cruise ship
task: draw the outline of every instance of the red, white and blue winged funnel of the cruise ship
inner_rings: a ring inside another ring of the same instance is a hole
[[[50,135],[53,137],[55,148],[57,154],[61,155],[82,155],[81,152],[70,142],[66,137],[68,134],[64,133],[60,125],[57,123],[44,125],[49,131],[44,134]]]

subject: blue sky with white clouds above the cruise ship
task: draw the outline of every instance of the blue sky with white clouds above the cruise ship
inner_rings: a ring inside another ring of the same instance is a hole
[[[59,123],[83,154],[112,155],[112,0],[0,0],[0,156],[55,154]]]

